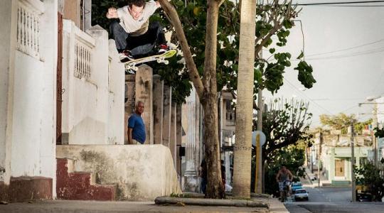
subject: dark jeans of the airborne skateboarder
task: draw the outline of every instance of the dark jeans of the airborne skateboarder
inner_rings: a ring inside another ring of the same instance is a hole
[[[117,21],[111,23],[110,31],[119,53],[130,50],[132,56],[145,55],[153,50],[155,44],[166,44],[163,27],[158,21],[149,23],[148,31],[139,36],[129,35]]]

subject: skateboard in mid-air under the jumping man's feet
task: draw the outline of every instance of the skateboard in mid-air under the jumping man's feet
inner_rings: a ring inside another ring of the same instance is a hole
[[[140,65],[145,62],[151,62],[151,61],[156,61],[158,63],[164,63],[165,65],[168,65],[169,61],[166,60],[166,58],[171,58],[172,56],[176,55],[176,53],[177,53],[177,50],[168,50],[165,53],[160,55],[150,55],[144,58],[129,60],[128,62],[124,62],[125,70],[127,70],[128,72],[130,70],[137,71],[139,69],[137,65]]]

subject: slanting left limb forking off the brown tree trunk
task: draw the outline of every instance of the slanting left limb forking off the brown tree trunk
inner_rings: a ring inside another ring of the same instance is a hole
[[[188,74],[190,80],[193,82],[193,86],[195,86],[196,93],[199,98],[203,98],[203,82],[200,79],[200,75],[198,75],[198,70],[196,68],[196,64],[193,61],[191,50],[189,49],[188,41],[186,40],[186,35],[183,31],[183,26],[181,26],[180,18],[178,18],[178,13],[174,6],[172,6],[167,0],[159,0],[161,7],[164,12],[169,17],[169,21],[174,26],[176,31],[176,36],[178,38],[178,42],[180,42],[181,50],[183,51],[184,60],[186,60],[186,67],[188,69]]]

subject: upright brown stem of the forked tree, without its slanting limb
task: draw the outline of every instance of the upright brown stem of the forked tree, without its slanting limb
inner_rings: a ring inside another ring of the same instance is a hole
[[[206,58],[204,61],[203,99],[204,141],[206,143],[206,163],[208,185],[206,197],[223,198],[225,196],[221,181],[220,146],[218,141],[218,100],[216,83],[216,50],[218,31],[219,2],[209,0],[207,3]]]

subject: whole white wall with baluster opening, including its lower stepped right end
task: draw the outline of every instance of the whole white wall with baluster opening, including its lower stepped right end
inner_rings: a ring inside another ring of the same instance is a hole
[[[90,53],[87,60],[79,59],[77,45]],[[88,66],[90,75],[79,77],[75,66]],[[64,144],[124,143],[123,70],[107,31],[93,26],[85,33],[63,21]]]

